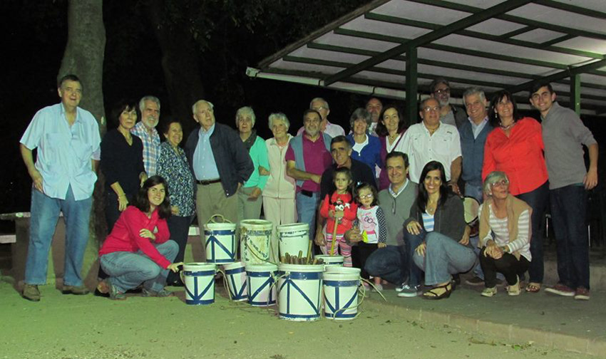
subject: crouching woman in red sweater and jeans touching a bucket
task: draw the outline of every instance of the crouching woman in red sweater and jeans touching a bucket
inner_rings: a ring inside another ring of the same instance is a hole
[[[168,185],[160,176],[148,178],[99,250],[101,267],[109,274],[99,283],[101,293],[122,300],[126,291],[143,283],[143,296],[173,295],[164,289],[166,276],[183,262],[173,263],[179,246],[169,240],[169,216]]]

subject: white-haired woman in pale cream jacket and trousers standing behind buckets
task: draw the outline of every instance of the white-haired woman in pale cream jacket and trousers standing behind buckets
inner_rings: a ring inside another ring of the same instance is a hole
[[[274,137],[265,141],[269,160],[269,177],[263,189],[263,211],[265,219],[274,226],[297,222],[294,204],[294,179],[286,175],[286,150],[292,135],[288,133],[289,120],[284,113],[269,115],[269,129]],[[278,260],[278,241],[274,230],[272,236],[272,261]]]

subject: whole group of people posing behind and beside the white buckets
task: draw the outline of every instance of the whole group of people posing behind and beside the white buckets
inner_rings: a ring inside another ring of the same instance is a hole
[[[63,293],[88,293],[80,271],[98,161],[110,234],[99,251],[97,288],[115,300],[142,283],[143,296],[170,296],[167,283],[182,285],[178,267],[194,215],[203,228],[215,214],[239,222],[262,212],[274,226],[309,224],[320,251],[344,256],[379,290],[393,283],[402,297],[448,298],[458,274],[472,269],[466,283],[484,285],[483,296],[495,295],[503,279],[512,296],[537,293],[548,202],[560,281],[545,291],[590,298],[585,207],[587,189],[597,185],[597,142],[555,102],[549,83],[530,91],[541,123],[522,118],[505,90],[489,104],[469,88],[465,110],[458,108],[448,81],[437,78],[419,105],[421,122],[409,128],[398,105],[371,98],[354,110],[346,135],[329,122],[327,101],[314,98],[295,136],[286,115],[269,115],[268,140],[257,135],[252,108],[237,110],[234,130],[215,121],[212,103],[198,100],[199,126],[183,148],[177,120],[165,121],[160,140],[154,96],[118,103],[116,128],[101,140],[91,113],[78,107],[82,90],[76,76],[62,78],[61,103],[39,110],[21,138],[34,182],[26,299],[40,300],[59,212],[67,231]],[[477,226],[466,222],[463,196],[481,203]],[[271,242],[277,261],[277,238]]]

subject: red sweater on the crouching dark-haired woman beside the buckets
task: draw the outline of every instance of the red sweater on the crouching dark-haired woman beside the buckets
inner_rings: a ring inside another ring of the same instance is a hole
[[[155,241],[139,235],[139,231],[144,228],[152,231],[155,235]],[[155,249],[154,244],[162,244],[168,239],[170,239],[168,225],[166,219],[158,217],[158,209],[152,213],[151,218],[148,218],[137,207],[128,206],[120,214],[120,218],[115,222],[111,233],[103,242],[103,246],[99,249],[99,256],[115,251],[136,252],[140,249],[158,266],[166,269],[170,261],[160,254],[158,249]]]

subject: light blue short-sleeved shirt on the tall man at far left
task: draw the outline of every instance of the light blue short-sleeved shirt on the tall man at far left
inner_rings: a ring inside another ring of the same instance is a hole
[[[71,186],[76,201],[93,194],[97,175],[91,160],[99,160],[101,137],[91,113],[76,108],[76,120],[68,124],[61,103],[39,110],[21,137],[29,150],[38,149],[36,170],[42,175],[44,194],[66,199]]]

